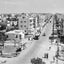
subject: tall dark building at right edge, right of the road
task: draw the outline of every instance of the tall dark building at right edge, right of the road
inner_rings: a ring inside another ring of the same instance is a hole
[[[56,25],[56,32],[58,38],[60,39],[60,43],[64,43],[64,16],[61,14],[55,15],[55,25]],[[54,30],[55,31],[55,30]]]

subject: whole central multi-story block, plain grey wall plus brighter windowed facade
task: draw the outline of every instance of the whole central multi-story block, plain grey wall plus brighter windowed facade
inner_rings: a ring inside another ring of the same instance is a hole
[[[36,14],[35,14],[36,15]],[[19,29],[24,30],[25,33],[28,33],[31,30],[33,31],[34,28],[38,27],[38,16],[35,16],[34,14],[22,13],[21,17],[19,17]]]

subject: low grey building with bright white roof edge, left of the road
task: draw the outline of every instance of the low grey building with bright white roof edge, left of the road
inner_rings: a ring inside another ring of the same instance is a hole
[[[14,40],[16,42],[19,42],[24,39],[24,32],[22,30],[9,31],[6,32],[5,35],[7,35],[7,40]]]

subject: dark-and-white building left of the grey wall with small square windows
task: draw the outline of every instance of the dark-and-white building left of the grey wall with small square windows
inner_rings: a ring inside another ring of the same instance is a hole
[[[8,18],[6,18],[7,22],[7,30],[10,29],[18,29],[18,18],[15,17],[14,14],[8,14]]]

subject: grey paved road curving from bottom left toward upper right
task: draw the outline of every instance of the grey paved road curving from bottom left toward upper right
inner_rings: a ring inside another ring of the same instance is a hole
[[[37,57],[39,54],[39,50],[44,43],[49,42],[49,36],[51,34],[52,24],[49,23],[45,27],[46,36],[41,36],[38,41],[34,41],[31,45],[30,49],[26,49],[26,51],[22,51],[22,53],[18,56],[18,58],[8,59],[6,64],[31,64],[30,59],[33,57]]]

